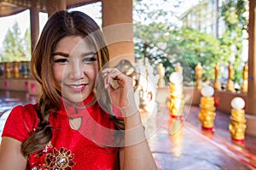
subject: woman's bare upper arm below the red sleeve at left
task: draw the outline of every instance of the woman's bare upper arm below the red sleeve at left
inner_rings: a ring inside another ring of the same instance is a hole
[[[3,137],[0,145],[0,169],[26,169],[26,158],[21,153],[19,140]]]

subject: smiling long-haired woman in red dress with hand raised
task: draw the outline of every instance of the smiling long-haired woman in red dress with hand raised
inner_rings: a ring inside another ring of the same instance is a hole
[[[81,12],[49,18],[31,60],[42,95],[11,111],[0,169],[156,169],[132,80],[108,68],[99,30]]]

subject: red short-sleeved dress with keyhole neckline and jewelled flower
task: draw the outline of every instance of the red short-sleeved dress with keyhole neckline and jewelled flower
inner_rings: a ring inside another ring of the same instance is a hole
[[[92,96],[84,100],[88,103]],[[11,111],[3,137],[24,142],[37,127],[38,105],[16,106]],[[70,127],[69,120],[82,117],[79,130]],[[100,105],[75,109],[62,102],[61,111],[50,113],[53,137],[44,150],[29,156],[26,169],[119,169],[119,154],[113,144],[113,121]],[[110,145],[110,146],[109,146]],[[108,147],[109,146],[109,147]]]

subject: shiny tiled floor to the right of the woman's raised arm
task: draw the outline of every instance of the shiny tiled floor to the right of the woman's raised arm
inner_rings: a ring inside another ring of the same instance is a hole
[[[179,126],[177,120],[162,116],[166,106],[160,108],[156,119],[166,119],[166,122],[148,140],[158,167],[171,170],[256,169],[256,137],[246,136],[246,144],[242,147],[233,144],[227,127],[228,116],[219,111],[215,133],[201,131],[197,118],[199,110],[192,106],[185,122]],[[177,133],[172,133],[175,129]]]

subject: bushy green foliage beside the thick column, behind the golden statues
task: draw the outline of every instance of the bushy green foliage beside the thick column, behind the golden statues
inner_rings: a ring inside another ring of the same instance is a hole
[[[137,29],[137,58],[146,57],[152,64],[163,63],[166,67],[166,80],[173,67],[180,63],[183,66],[184,81],[195,81],[195,65],[198,62],[205,65],[203,79],[213,78],[214,70],[211,68],[220,60],[218,39],[193,28],[172,30],[160,23],[137,26]]]

